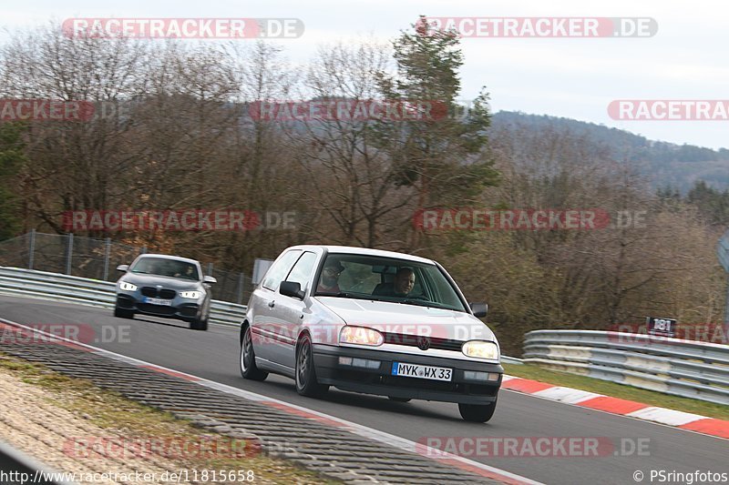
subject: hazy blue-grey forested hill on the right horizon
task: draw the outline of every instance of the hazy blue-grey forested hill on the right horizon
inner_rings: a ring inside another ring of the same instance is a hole
[[[729,188],[729,149],[726,148],[676,145],[570,118],[510,111],[496,113],[490,129],[492,135],[502,130],[570,132],[572,136],[583,137],[595,150],[608,149],[615,159],[635,163],[649,177],[653,188],[677,187],[685,194],[697,180],[704,180],[719,190]]]

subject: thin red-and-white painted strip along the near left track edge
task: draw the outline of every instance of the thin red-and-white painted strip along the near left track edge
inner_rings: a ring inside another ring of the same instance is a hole
[[[446,465],[449,465],[452,467],[456,467],[461,470],[467,470],[467,471],[470,471],[471,473],[474,473],[481,477],[486,477],[491,480],[498,480],[501,483],[508,483],[510,485],[522,485],[522,484],[524,484],[524,485],[542,485],[541,482],[539,482],[539,481],[531,480],[526,477],[519,476],[515,473],[511,473],[506,470],[500,470],[495,467],[489,467],[488,465],[485,465],[484,463],[479,463],[474,460],[468,460],[466,458],[454,455],[452,453],[447,453],[442,450],[432,449],[430,447],[426,447],[422,443],[416,443],[415,441],[406,440],[404,438],[400,438],[399,436],[385,433],[384,431],[380,431],[378,429],[367,428],[366,426],[362,426],[360,424],[353,423],[353,422],[347,421],[345,419],[336,418],[334,416],[330,416],[328,414],[324,414],[323,412],[315,411],[313,409],[303,408],[302,406],[297,406],[295,404],[290,404],[288,402],[285,402],[285,401],[282,401],[279,399],[273,399],[268,396],[263,396],[262,394],[257,394],[255,392],[251,392],[249,390],[233,388],[232,386],[228,386],[226,384],[221,384],[220,382],[215,382],[215,381],[209,380],[209,379],[203,379],[198,376],[194,376],[192,374],[180,372],[179,370],[174,370],[174,369],[169,369],[166,367],[158,366],[156,364],[145,362],[144,360],[133,359],[131,357],[127,357],[127,356],[124,356],[121,354],[117,354],[115,352],[111,352],[109,350],[98,349],[97,347],[92,347],[87,344],[79,343],[77,341],[73,341],[68,338],[57,337],[53,334],[44,332],[42,330],[27,327],[26,325],[16,323],[14,321],[6,320],[5,318],[0,318],[0,328],[5,327],[3,324],[5,324],[5,326],[11,326],[14,328],[23,328],[26,331],[36,332],[36,333],[41,334],[41,335],[45,336],[46,338],[48,338],[49,341],[57,342],[60,345],[65,345],[65,346],[71,347],[73,349],[79,349],[79,350],[84,350],[84,351],[91,352],[94,354],[98,354],[98,355],[107,357],[108,359],[114,359],[114,360],[118,360],[120,362],[125,362],[127,364],[131,364],[135,367],[139,367],[142,369],[149,369],[149,370],[167,374],[169,376],[173,376],[176,378],[189,380],[190,382],[195,382],[197,384],[200,384],[200,386],[205,386],[206,388],[216,389],[221,392],[226,392],[228,394],[240,396],[241,398],[249,399],[249,400],[255,401],[259,404],[262,404],[265,406],[270,406],[275,409],[280,409],[282,411],[288,412],[288,413],[296,415],[296,416],[315,420],[315,421],[325,424],[327,426],[334,426],[339,429],[344,429],[350,433],[353,433],[358,436],[362,436],[369,440],[379,441],[381,443],[384,443],[385,445],[394,447],[399,450],[405,450],[405,451],[409,451],[411,453],[416,453],[416,454],[423,456],[425,458],[428,458],[430,460],[436,460],[440,463],[443,463],[443,464],[446,464]],[[430,455],[436,455],[436,456],[430,456]]]

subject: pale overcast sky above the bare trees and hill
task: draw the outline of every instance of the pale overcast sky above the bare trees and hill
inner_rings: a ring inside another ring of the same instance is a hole
[[[49,21],[60,28],[69,17],[298,18],[305,26],[301,37],[267,41],[282,45],[294,65],[306,64],[319,45],[367,36],[391,40],[418,15],[650,17],[658,25],[650,37],[463,38],[459,97],[473,99],[486,86],[495,112],[570,117],[655,140],[729,147],[726,119],[616,120],[608,114],[614,100],[729,103],[729,4],[720,1],[4,0],[0,5],[0,44],[19,29]]]

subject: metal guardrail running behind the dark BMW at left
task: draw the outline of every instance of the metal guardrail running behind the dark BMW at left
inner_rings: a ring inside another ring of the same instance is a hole
[[[78,278],[36,271],[0,267],[0,293],[67,301],[99,308],[114,308],[115,283],[99,279]],[[239,326],[246,306],[229,301],[212,300],[210,323]]]

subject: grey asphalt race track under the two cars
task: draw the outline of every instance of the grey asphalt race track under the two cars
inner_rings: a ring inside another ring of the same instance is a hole
[[[483,425],[463,421],[457,405],[450,403],[396,403],[336,389],[325,399],[303,398],[296,394],[291,379],[270,376],[263,382],[254,382],[241,378],[237,328],[211,324],[207,332],[200,332],[190,330],[176,320],[139,316],[126,320],[114,318],[111,310],[5,296],[0,296],[0,317],[26,325],[89,325],[95,328],[98,341],[88,343],[100,348],[316,409],[407,440],[417,441],[424,437],[453,437],[456,440],[462,437],[591,437],[614,444],[615,450],[599,457],[466,455],[471,460],[545,483],[636,483],[633,479],[636,470],[644,473],[642,483],[659,482],[658,477],[651,480],[651,470],[662,470],[666,474],[696,470],[729,473],[729,440],[506,390],[499,394],[494,418]],[[81,332],[82,338],[85,334]],[[647,445],[647,456],[645,452],[640,455],[637,451],[629,453],[632,445],[639,441]],[[615,456],[614,452],[620,452],[621,448],[630,456]],[[600,446],[598,450],[605,449]]]

